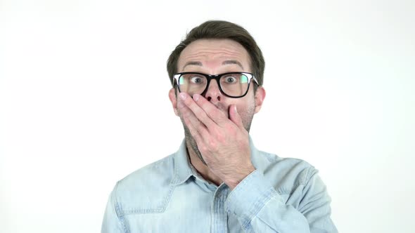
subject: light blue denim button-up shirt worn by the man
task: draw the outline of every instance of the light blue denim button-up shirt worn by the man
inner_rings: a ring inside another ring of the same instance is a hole
[[[256,170],[230,191],[197,173],[183,142],[117,182],[101,232],[337,232],[313,166],[250,148]]]

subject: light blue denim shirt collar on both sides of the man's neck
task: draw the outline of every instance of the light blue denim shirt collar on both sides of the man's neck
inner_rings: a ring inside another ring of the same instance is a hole
[[[249,136],[251,161],[257,170],[263,170],[266,159],[261,156]],[[189,156],[187,155],[186,139],[181,142],[179,150],[174,154],[174,184],[180,185],[188,180],[195,173],[192,171]]]

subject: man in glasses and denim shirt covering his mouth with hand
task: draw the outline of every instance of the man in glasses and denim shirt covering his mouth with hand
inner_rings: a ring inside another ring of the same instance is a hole
[[[167,71],[184,141],[117,182],[102,232],[337,232],[317,170],[260,152],[248,134],[265,90],[262,52],[245,29],[204,22]]]

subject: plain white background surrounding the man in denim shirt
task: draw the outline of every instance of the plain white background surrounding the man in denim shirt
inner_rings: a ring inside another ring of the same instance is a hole
[[[183,138],[165,64],[201,22],[266,60],[255,145],[319,169],[340,232],[414,232],[413,1],[0,1],[0,232],[99,232]]]

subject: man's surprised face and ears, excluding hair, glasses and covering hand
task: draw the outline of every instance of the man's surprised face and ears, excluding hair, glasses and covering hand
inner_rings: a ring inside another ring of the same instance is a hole
[[[250,56],[245,48],[236,41],[229,39],[200,39],[193,41],[181,52],[177,62],[177,71],[199,72],[203,74],[251,72]],[[218,109],[222,110],[226,116],[229,116],[229,105],[236,105],[238,114],[241,115],[243,126],[245,126],[246,131],[249,131],[253,114],[260,110],[262,100],[264,99],[263,88],[258,88],[255,98],[253,85],[252,82],[248,93],[243,98],[229,98],[219,91],[217,82],[212,80],[204,97]],[[191,144],[191,149],[203,161],[196,141],[189,132],[189,128],[184,124],[181,112],[177,108],[177,101],[181,100],[174,95],[173,89],[170,90],[170,100],[172,101],[174,112],[181,118],[187,142]]]

